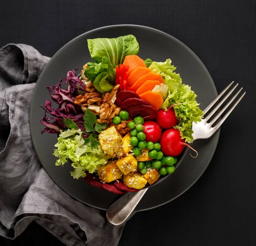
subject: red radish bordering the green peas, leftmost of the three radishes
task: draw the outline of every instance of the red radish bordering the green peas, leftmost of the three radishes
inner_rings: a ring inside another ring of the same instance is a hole
[[[146,121],[143,124],[143,132],[146,135],[146,142],[158,142],[161,137],[161,128],[157,122],[154,121]]]

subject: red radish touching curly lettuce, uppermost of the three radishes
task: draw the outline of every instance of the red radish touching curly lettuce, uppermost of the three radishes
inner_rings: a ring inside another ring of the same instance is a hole
[[[175,112],[172,107],[169,107],[167,111],[163,109],[157,112],[157,123],[163,129],[169,129],[178,124],[178,120],[175,116]]]

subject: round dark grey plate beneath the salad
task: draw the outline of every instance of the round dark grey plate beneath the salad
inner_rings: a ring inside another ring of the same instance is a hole
[[[88,38],[115,38],[128,34],[137,38],[141,58],[151,58],[153,61],[172,59],[172,64],[177,67],[176,71],[180,73],[183,83],[189,84],[198,95],[202,109],[217,96],[212,78],[199,58],[176,38],[156,29],[134,25],[106,26],[84,33],[62,47],[44,68],[36,84],[30,105],[31,136],[41,164],[56,184],[81,202],[100,209],[107,209],[116,200],[117,195],[88,185],[83,179],[73,179],[69,173],[72,171],[70,165],[64,165],[63,168],[54,165],[55,157],[52,153],[57,136],[48,133],[41,135],[43,125],[40,119],[44,111],[39,105],[43,105],[45,100],[50,98],[47,85],[58,83],[61,78],[66,77],[67,71],[75,68],[81,70],[86,62],[92,61],[87,48]],[[175,173],[151,187],[136,211],[168,203],[189,189],[209,165],[218,137],[219,131],[210,139],[197,140],[193,148],[198,150],[198,158],[192,158],[187,151]]]

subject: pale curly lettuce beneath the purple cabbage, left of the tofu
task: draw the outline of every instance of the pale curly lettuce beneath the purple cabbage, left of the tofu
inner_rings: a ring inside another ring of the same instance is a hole
[[[95,148],[85,145],[80,129],[61,130],[58,142],[54,146],[57,149],[54,150],[53,155],[58,157],[55,165],[63,166],[70,159],[74,168],[70,174],[74,179],[85,177],[85,171],[93,173],[108,160],[99,145]]]

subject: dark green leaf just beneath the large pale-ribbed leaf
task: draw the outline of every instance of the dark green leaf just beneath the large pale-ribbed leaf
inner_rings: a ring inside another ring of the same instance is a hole
[[[88,62],[87,65],[88,67],[84,70],[84,75],[86,78],[90,79],[92,83],[94,83],[96,77],[102,72],[108,73],[108,81],[111,83],[115,82],[116,69],[107,57],[104,56],[100,63]]]

